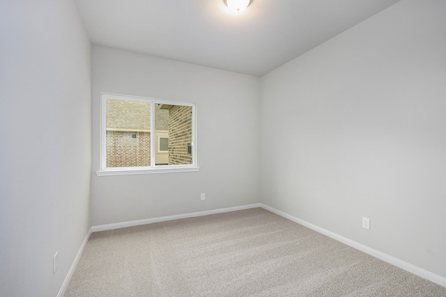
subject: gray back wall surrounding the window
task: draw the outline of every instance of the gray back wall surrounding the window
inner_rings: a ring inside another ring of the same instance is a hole
[[[100,46],[92,63],[93,225],[259,202],[258,77]],[[100,92],[196,104],[199,172],[95,175]]]

